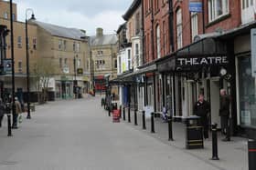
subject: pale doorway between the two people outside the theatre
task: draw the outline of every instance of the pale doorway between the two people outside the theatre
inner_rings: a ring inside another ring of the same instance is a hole
[[[211,123],[220,125],[219,117],[219,78],[210,80],[210,105],[211,105]]]

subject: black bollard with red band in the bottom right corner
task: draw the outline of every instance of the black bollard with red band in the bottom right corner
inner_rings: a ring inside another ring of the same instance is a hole
[[[249,161],[249,170],[256,169],[256,141],[249,140],[248,141],[248,161]]]

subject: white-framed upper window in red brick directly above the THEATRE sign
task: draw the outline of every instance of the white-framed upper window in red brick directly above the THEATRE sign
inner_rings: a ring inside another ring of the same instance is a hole
[[[208,21],[229,14],[229,0],[208,0]]]

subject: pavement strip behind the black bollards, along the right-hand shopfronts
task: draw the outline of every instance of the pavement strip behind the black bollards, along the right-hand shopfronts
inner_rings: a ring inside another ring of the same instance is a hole
[[[168,124],[164,123],[161,118],[155,118],[155,134],[151,134],[151,120],[146,120],[146,130],[142,130],[142,113],[138,113],[138,125],[134,126],[134,116],[131,111],[132,123],[127,123],[127,109],[126,109],[126,125],[131,125],[136,130],[143,131],[145,134],[158,139],[166,145],[172,145],[177,149],[193,155],[201,161],[213,165],[219,169],[227,170],[247,170],[248,169],[248,152],[247,152],[247,139],[241,137],[232,137],[231,142],[222,142],[221,139],[225,136],[219,133],[219,161],[212,161],[209,158],[212,156],[212,142],[211,137],[204,142],[204,149],[187,150],[185,147],[185,125],[183,123],[173,124],[173,137],[174,141],[168,141]],[[210,134],[211,136],[211,134]]]

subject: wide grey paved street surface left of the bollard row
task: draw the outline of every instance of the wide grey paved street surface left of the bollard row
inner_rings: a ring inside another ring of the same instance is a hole
[[[225,169],[176,145],[161,142],[157,135],[139,127],[124,122],[112,124],[100,104],[100,97],[89,97],[39,105],[32,120],[24,120],[13,137],[6,136],[5,120],[4,128],[0,129],[0,169]],[[156,125],[160,135],[157,129]],[[225,164],[234,162],[229,161]]]

